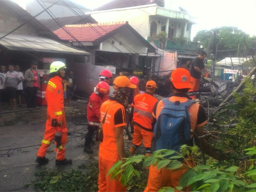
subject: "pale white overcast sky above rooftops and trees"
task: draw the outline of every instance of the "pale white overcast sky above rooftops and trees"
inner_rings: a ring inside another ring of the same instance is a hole
[[[1,1],[1,0],[0,0]],[[13,0],[22,7],[31,0]],[[79,4],[95,9],[111,0],[73,0]],[[129,1],[129,0],[127,0]],[[256,0],[165,0],[174,5],[181,6],[192,17],[197,18],[197,24],[193,25],[191,37],[199,30],[210,30],[215,27],[238,27],[249,35],[256,35],[254,24],[256,14]]]

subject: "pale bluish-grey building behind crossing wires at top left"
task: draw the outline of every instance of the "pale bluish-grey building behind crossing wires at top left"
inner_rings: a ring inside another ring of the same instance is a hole
[[[50,7],[57,1],[53,0],[40,0],[40,4],[43,7]],[[35,16],[39,12],[43,11],[43,7],[38,3],[37,0],[32,0],[27,2],[26,11],[29,12],[32,16]],[[75,11],[78,15],[83,15],[85,12],[91,11],[90,9],[79,5],[77,2],[73,0],[62,0],[55,3],[52,7],[50,7],[49,11],[54,14],[57,18],[62,17],[70,17],[74,16],[73,11]],[[38,15],[38,20],[41,19],[51,19],[50,15],[46,12]]]

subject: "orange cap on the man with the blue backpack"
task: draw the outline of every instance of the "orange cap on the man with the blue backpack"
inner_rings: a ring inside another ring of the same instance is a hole
[[[193,87],[189,71],[183,68],[175,69],[171,73],[171,82],[176,89],[191,89]]]

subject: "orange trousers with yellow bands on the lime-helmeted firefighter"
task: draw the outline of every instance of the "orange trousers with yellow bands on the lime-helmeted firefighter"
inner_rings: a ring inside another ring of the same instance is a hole
[[[66,126],[66,122],[63,121],[63,126]],[[51,126],[50,119],[46,122],[46,129],[45,129],[45,137],[42,140],[42,145],[38,150],[37,156],[38,157],[45,157],[46,151],[48,147],[53,142],[53,139],[55,137],[56,128]],[[59,161],[62,161],[65,159],[65,144],[67,142],[67,132],[62,132],[61,134],[61,147],[59,149],[55,148],[55,152],[57,153],[56,159]],[[56,145],[56,143],[55,143]]]

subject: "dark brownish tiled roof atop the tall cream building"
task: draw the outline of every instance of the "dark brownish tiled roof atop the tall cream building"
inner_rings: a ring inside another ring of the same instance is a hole
[[[110,9],[120,9],[125,7],[135,7],[141,5],[150,5],[157,3],[155,0],[113,0],[105,5],[102,5],[94,11],[103,11],[103,10],[110,10]]]

